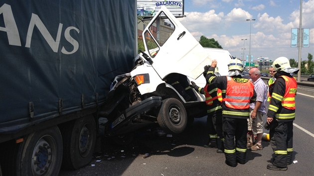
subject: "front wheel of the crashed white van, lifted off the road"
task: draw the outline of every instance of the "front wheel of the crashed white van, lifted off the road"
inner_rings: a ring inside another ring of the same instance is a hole
[[[187,124],[187,115],[183,104],[175,98],[165,99],[160,107],[158,124],[166,131],[181,133]]]

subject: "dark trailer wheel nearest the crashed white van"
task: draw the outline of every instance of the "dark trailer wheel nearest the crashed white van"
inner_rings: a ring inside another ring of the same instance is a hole
[[[91,162],[96,143],[96,123],[92,115],[76,119],[61,128],[63,138],[62,167],[78,169]]]

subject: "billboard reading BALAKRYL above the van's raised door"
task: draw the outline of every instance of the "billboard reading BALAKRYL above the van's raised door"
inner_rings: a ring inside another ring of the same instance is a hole
[[[138,0],[137,14],[143,17],[153,17],[161,6],[165,6],[175,17],[183,17],[184,0]]]

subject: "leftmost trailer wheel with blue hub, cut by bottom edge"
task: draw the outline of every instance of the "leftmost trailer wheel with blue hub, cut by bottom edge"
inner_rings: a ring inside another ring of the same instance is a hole
[[[62,136],[57,126],[27,135],[17,149],[17,176],[57,176],[62,162]]]

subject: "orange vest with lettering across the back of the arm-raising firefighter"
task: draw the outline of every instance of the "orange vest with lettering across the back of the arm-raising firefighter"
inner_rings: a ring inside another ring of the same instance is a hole
[[[229,108],[248,109],[253,93],[254,85],[250,81],[237,83],[231,77],[227,77],[226,97],[223,98],[223,101]]]

